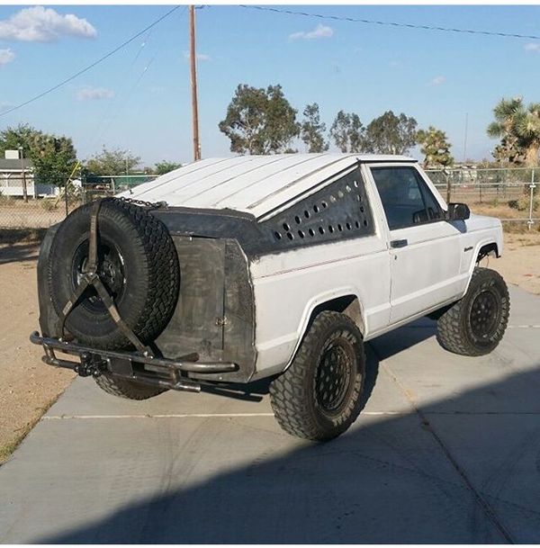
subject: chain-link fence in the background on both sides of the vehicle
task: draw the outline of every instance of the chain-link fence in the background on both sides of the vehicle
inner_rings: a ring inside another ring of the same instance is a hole
[[[493,215],[505,223],[540,224],[540,168],[481,169],[463,167],[428,170],[428,175],[446,202],[465,202],[473,211],[493,207]],[[80,183],[49,189],[48,193],[20,195],[0,193],[0,229],[45,229],[65,219],[67,213],[82,203],[112,196],[157,175],[89,176]],[[1,191],[1,189],[0,189]],[[488,211],[489,212],[489,211]]]

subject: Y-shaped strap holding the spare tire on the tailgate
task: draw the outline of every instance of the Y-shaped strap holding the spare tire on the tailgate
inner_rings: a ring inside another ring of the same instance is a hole
[[[105,198],[106,200],[106,198]],[[96,200],[92,204],[90,210],[90,238],[88,243],[88,261],[86,262],[83,277],[76,288],[75,292],[68,299],[66,306],[62,310],[62,313],[58,317],[57,333],[61,338],[64,337],[64,328],[66,325],[66,319],[69,313],[73,310],[78,300],[81,298],[85,290],[90,286],[94,286],[95,291],[102,300],[103,305],[109,311],[112,321],[121,330],[121,333],[130,340],[130,343],[142,353],[142,355],[151,356],[152,351],[148,346],[144,346],[137,335],[128,327],[126,322],[121,319],[120,313],[114,304],[114,301],[107,291],[107,288],[103,285],[97,274],[97,216],[103,200]]]

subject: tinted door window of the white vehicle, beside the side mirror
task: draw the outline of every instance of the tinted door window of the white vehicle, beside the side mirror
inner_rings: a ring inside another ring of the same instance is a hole
[[[443,211],[414,167],[372,167],[390,229],[443,219]]]

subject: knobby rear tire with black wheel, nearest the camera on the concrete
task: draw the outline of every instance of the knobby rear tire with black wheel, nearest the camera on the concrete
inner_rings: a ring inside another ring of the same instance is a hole
[[[270,402],[285,432],[326,441],[355,422],[364,382],[362,334],[344,314],[324,311],[313,320],[293,364],[270,384]]]

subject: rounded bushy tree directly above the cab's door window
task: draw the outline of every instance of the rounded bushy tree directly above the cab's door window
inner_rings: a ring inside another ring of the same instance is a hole
[[[365,130],[365,151],[375,154],[407,154],[416,144],[417,121],[392,111],[370,121]]]

